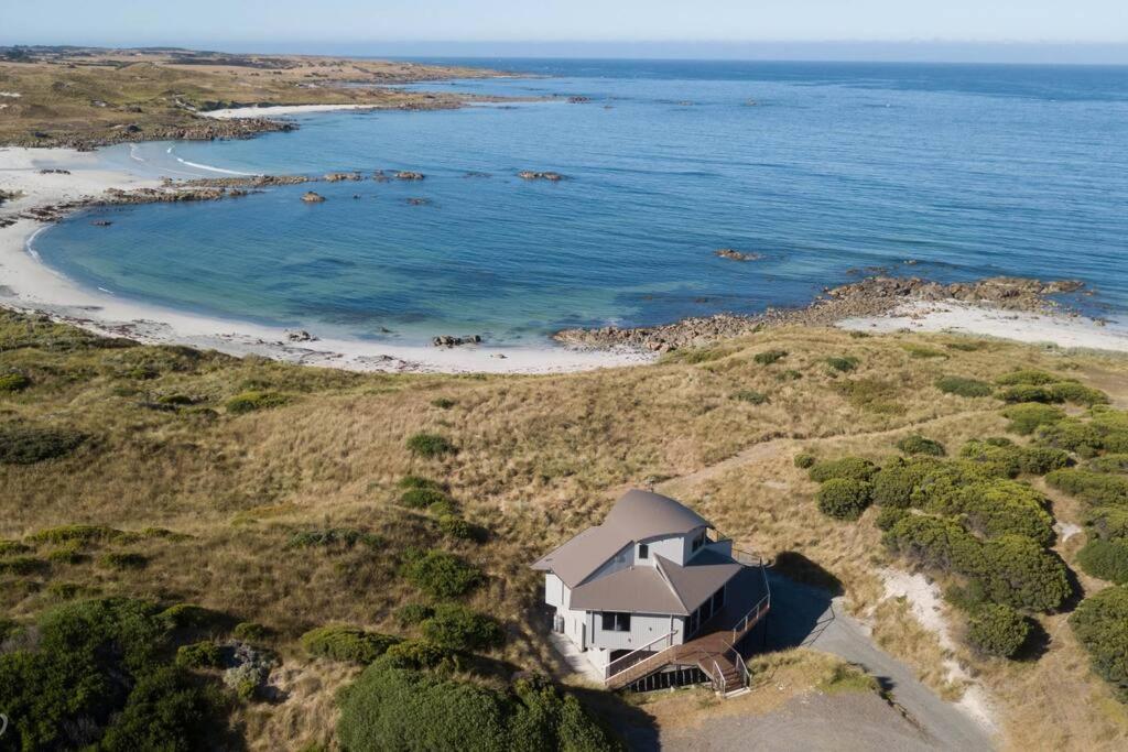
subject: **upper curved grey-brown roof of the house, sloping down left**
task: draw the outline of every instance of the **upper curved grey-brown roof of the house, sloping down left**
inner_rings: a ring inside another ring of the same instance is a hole
[[[532,564],[575,587],[628,545],[711,528],[703,516],[678,502],[649,490],[628,490],[608,512],[603,524],[584,530]]]

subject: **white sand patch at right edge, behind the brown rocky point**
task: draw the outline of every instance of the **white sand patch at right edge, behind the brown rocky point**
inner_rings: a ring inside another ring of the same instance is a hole
[[[888,316],[843,319],[858,331],[953,331],[1060,347],[1128,352],[1128,330],[1079,316],[1047,316],[969,306],[959,301],[906,303]]]

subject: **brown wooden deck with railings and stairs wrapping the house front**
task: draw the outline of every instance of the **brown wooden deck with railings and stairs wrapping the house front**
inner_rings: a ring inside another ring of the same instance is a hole
[[[737,665],[739,643],[767,616],[770,601],[765,602],[768,590],[760,567],[746,567],[730,583],[730,589],[733,592],[726,596],[724,607],[689,642],[642,657],[610,676],[607,688],[629,687],[667,666],[697,666],[728,691],[743,687],[743,671]],[[757,604],[760,609],[749,616]]]

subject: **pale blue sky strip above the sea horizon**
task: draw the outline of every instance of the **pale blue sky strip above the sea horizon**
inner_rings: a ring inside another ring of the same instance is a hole
[[[907,43],[905,54],[1093,46],[1128,62],[1128,0],[0,0],[0,44],[528,54],[547,43],[549,54],[661,56],[710,42],[717,56],[832,42],[883,55]]]

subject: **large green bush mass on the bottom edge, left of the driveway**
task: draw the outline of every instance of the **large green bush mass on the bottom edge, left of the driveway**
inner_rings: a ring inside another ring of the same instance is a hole
[[[505,690],[397,667],[364,670],[341,699],[341,746],[369,750],[583,750],[618,745],[571,695],[540,679]]]

